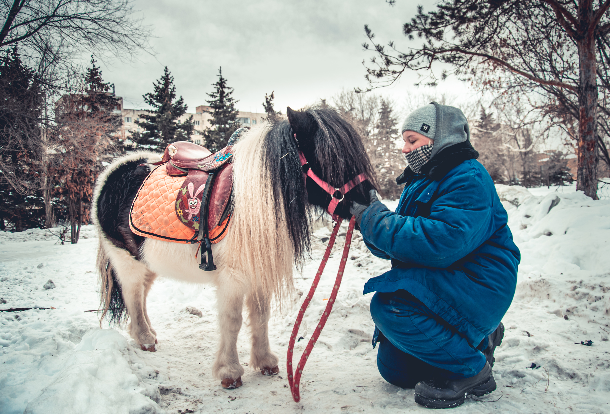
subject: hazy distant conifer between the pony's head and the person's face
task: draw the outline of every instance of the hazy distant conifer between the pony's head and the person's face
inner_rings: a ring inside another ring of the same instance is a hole
[[[396,184],[396,177],[403,172],[406,162],[397,146],[397,118],[393,116],[388,99],[379,99],[378,120],[374,132],[365,143],[371,164],[379,180],[379,193],[384,198],[399,198],[403,188]]]

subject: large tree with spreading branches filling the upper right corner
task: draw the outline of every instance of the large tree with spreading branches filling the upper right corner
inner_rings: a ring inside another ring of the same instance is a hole
[[[444,0],[428,13],[419,7],[403,32],[423,44],[408,52],[393,42],[386,50],[365,26],[381,58],[373,59],[367,77],[374,88],[406,70],[425,71],[426,82],[434,85],[432,64],[444,62],[484,90],[531,99],[543,116],[578,139],[577,188],[597,198],[598,149],[610,164],[608,130],[600,123],[610,115],[609,7],[610,0]],[[448,74],[443,71],[440,78]]]

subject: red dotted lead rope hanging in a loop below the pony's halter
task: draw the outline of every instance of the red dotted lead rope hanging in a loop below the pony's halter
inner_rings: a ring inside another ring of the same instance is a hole
[[[341,222],[343,219],[338,218],[337,224],[335,224],[334,229],[332,229],[331,238],[328,241],[328,246],[326,246],[326,252],[324,253],[324,258],[322,259],[322,263],[320,263],[320,267],[318,268],[318,273],[315,274],[314,282],[311,284],[311,288],[309,289],[309,293],[307,293],[307,297],[301,305],[301,310],[299,311],[299,315],[296,317],[295,326],[292,328],[292,334],[290,335],[290,341],[288,344],[288,355],[286,357],[287,366],[286,371],[288,372],[288,384],[290,385],[290,391],[292,392],[292,398],[295,402],[299,402],[301,399],[301,394],[299,393],[299,383],[301,381],[301,374],[303,373],[303,368],[305,368],[305,363],[307,362],[307,358],[309,357],[310,352],[314,348],[315,342],[318,340],[320,336],[320,332],[322,332],[322,328],[326,324],[326,319],[328,319],[328,315],[330,315],[332,310],[332,305],[335,303],[335,299],[337,299],[337,292],[339,291],[339,285],[341,284],[341,279],[343,278],[343,269],[345,269],[345,262],[347,262],[347,255],[350,252],[351,245],[351,234],[354,232],[354,217],[352,216],[350,220],[350,226],[348,226],[347,234],[345,235],[345,246],[343,246],[343,256],[341,257],[341,262],[339,264],[339,273],[337,273],[337,279],[335,280],[335,285],[332,288],[331,297],[328,299],[328,304],[326,304],[326,309],[324,310],[324,314],[320,318],[320,322],[318,326],[315,327],[314,334],[311,335],[309,343],[303,351],[303,355],[301,355],[301,360],[299,364],[296,366],[296,373],[294,378],[292,377],[292,354],[295,348],[295,340],[296,334],[299,332],[299,327],[301,326],[301,321],[303,321],[303,315],[305,314],[305,310],[311,302],[311,299],[314,297],[315,288],[318,287],[318,282],[320,282],[320,276],[324,271],[326,266],[326,262],[328,262],[328,257],[331,255],[332,246],[335,244],[335,238],[337,237],[337,232],[339,232],[339,227],[341,226]]]

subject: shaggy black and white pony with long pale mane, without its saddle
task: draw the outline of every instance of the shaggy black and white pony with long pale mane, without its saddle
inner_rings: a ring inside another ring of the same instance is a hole
[[[236,344],[244,298],[252,328],[249,365],[263,374],[278,373],[267,332],[271,299],[292,290],[293,268],[303,265],[310,248],[312,214],[331,201],[312,179],[304,179],[298,151],[332,187],[362,173],[370,177],[339,203],[335,213],[342,218],[351,218],[351,200],[368,203],[375,184],[361,137],[339,113],[311,107],[289,108],[287,115],[288,120],[254,127],[234,146],[234,213],[226,237],[213,245],[216,271],[199,269],[197,244],[140,237],[129,229],[132,201],[152,169],[142,164],[158,161],[160,154],[138,151],[121,157],[99,176],[95,188],[102,318],[108,313],[110,321],[120,322],[129,316],[131,336],[142,349],[155,351],[146,295],[157,275],[214,285],[220,343],[213,375],[225,388],[239,387],[244,373]]]

